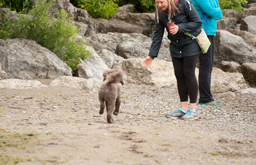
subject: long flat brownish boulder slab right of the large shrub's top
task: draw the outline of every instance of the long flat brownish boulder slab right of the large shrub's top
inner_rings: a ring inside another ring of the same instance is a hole
[[[148,28],[140,25],[133,25],[121,20],[104,20],[101,18],[85,18],[77,17],[78,22],[82,22],[88,25],[88,31],[85,36],[89,37],[98,33],[141,33],[146,35]]]

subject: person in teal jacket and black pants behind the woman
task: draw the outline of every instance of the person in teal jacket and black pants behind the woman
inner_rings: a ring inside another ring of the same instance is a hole
[[[222,12],[218,0],[191,0],[202,21],[202,27],[206,32],[211,46],[207,53],[199,55],[199,105],[220,107],[221,104],[214,101],[211,95],[211,74],[214,64],[214,36],[217,30],[217,21],[222,19]]]

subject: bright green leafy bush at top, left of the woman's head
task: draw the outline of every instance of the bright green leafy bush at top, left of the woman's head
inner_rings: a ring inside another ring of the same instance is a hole
[[[73,4],[86,9],[93,18],[109,19],[118,12],[117,0],[76,0]]]

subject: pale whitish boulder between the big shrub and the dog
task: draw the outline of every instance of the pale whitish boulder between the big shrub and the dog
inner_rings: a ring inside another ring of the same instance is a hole
[[[80,78],[94,78],[103,80],[103,72],[109,69],[100,56],[93,50],[88,60],[80,60],[77,65],[76,75]]]

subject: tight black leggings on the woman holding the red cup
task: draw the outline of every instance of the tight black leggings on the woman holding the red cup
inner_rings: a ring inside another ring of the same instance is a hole
[[[182,58],[171,57],[180,102],[188,101],[188,96],[190,103],[197,102],[198,83],[195,77],[195,66],[197,65],[198,56],[199,54]]]

